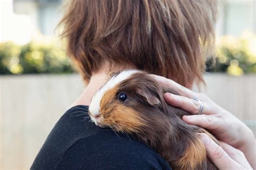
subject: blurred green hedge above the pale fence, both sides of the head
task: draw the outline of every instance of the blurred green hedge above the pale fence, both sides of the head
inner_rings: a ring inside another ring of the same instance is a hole
[[[208,72],[227,72],[240,76],[256,73],[256,35],[245,33],[241,38],[220,37],[217,41],[215,67]],[[72,73],[65,45],[58,39],[43,38],[26,45],[0,43],[0,74]],[[211,61],[206,63],[211,65]]]

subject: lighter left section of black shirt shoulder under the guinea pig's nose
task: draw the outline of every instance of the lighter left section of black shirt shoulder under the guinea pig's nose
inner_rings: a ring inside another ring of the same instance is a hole
[[[102,129],[90,122],[88,107],[77,105],[68,109],[58,120],[37,154],[31,169],[52,169],[64,153],[80,138]]]

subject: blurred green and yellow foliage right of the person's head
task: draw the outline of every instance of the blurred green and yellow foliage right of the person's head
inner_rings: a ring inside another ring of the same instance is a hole
[[[241,76],[256,73],[256,35],[245,32],[241,38],[223,36],[217,41],[215,67],[207,71]],[[210,61],[207,62],[210,65]]]

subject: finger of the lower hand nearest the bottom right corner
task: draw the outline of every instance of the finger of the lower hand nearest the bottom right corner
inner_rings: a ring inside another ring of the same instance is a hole
[[[220,141],[220,146],[223,148],[223,150],[238,164],[243,166],[246,169],[250,169],[251,165],[249,162],[246,160],[244,153],[242,153],[240,150],[237,148],[234,148],[231,145],[228,145],[227,143]]]

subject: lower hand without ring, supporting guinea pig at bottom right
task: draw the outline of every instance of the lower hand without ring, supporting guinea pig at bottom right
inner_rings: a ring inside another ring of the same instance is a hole
[[[207,153],[207,157],[220,170],[223,169],[252,169],[244,153],[220,141],[216,144],[205,133],[200,133]]]

